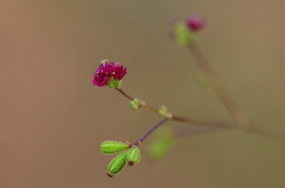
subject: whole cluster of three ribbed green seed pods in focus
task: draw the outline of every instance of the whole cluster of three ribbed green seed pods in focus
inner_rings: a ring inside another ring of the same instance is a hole
[[[120,152],[108,165],[107,175],[113,177],[113,174],[118,174],[128,163],[130,166],[140,162],[140,150],[137,145],[123,143],[117,141],[105,141],[100,145],[100,151],[103,154],[115,154]]]

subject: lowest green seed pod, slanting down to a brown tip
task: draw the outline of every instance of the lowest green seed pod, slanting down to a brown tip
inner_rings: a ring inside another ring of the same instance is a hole
[[[113,177],[113,174],[118,174],[123,167],[125,167],[125,159],[127,157],[127,151],[121,152],[119,155],[117,155],[108,165],[107,175],[109,177]]]

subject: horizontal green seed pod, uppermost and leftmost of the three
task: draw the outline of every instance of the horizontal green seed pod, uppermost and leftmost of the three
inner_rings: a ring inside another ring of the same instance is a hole
[[[100,151],[104,154],[114,154],[128,148],[129,145],[117,141],[105,141],[100,145]]]

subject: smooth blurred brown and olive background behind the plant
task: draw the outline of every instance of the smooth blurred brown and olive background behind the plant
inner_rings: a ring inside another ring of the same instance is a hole
[[[110,179],[100,142],[135,142],[161,118],[92,85],[100,61],[128,68],[123,90],[175,115],[233,122],[170,21],[207,20],[204,51],[242,110],[285,132],[285,1],[0,0],[0,187],[285,187],[285,142],[237,130],[176,140]],[[167,122],[172,127],[189,127]]]

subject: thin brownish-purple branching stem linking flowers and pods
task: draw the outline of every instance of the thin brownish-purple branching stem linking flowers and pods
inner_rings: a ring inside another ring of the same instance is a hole
[[[254,123],[250,122],[247,119],[247,117],[244,115],[244,113],[242,113],[242,111],[239,110],[238,106],[236,105],[236,103],[234,102],[232,97],[229,95],[229,93],[227,93],[227,90],[224,89],[224,86],[219,81],[219,78],[217,77],[216,73],[214,73],[211,66],[209,66],[207,59],[204,57],[204,54],[199,49],[199,46],[197,45],[197,43],[192,43],[192,45],[188,46],[188,48],[190,49],[192,55],[194,56],[195,61],[197,61],[199,68],[201,68],[201,70],[204,71],[204,73],[209,78],[219,100],[221,100],[224,107],[227,108],[228,112],[232,115],[232,117],[234,118],[234,120],[237,123],[237,126],[234,126],[234,125],[229,124],[227,122],[204,122],[204,121],[200,121],[200,120],[192,120],[190,118],[180,117],[177,115],[172,115],[171,120],[175,120],[177,122],[184,122],[184,123],[187,123],[189,125],[197,125],[199,127],[201,127],[201,126],[213,127],[216,129],[223,129],[223,130],[225,128],[226,129],[235,128],[235,129],[245,130],[247,132],[251,132],[251,133],[266,136],[266,137],[282,138],[282,139],[285,138],[285,135],[282,133],[279,133],[279,132],[276,133],[276,132],[271,132],[269,130],[263,130],[263,129],[257,127],[256,125],[254,125]],[[125,98],[128,98],[129,100],[134,100],[133,97],[131,97],[130,95],[123,92],[123,90],[121,90],[121,89],[117,89],[117,90],[122,95],[124,95]],[[152,112],[158,113],[157,108],[153,108],[149,105],[143,104],[141,107],[145,108],[147,110],[151,110]],[[162,125],[166,121],[167,121],[167,119],[165,118],[164,120],[159,122],[157,125],[155,125],[155,127],[152,128],[152,130],[147,132],[147,134],[144,137],[142,137],[140,140],[138,140],[138,142],[133,143],[131,146],[133,147],[133,145],[138,145],[140,142],[142,142],[142,140],[145,140],[145,137],[150,135],[150,133],[152,131],[157,129],[157,127],[159,127],[160,125]]]

